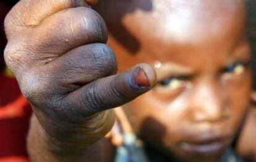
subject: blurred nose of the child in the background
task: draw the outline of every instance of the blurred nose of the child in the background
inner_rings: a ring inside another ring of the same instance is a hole
[[[193,122],[218,122],[230,115],[224,90],[215,83],[200,83],[192,90],[189,114]]]

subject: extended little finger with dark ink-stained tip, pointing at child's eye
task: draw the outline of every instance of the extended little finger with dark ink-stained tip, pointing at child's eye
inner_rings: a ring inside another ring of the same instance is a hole
[[[139,64],[122,74],[98,79],[69,93],[64,103],[68,104],[66,106],[70,111],[74,111],[72,113],[75,116],[83,114],[84,117],[134,100],[148,92],[155,82],[156,73],[153,67]]]

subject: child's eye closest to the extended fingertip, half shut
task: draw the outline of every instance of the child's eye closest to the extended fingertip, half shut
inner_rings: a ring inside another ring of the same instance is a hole
[[[177,88],[184,86],[184,81],[177,77],[174,77],[164,79],[159,84],[161,85],[161,87],[168,88],[169,90],[176,90]]]

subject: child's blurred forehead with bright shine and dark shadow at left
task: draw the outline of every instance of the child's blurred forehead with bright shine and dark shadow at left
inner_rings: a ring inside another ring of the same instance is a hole
[[[109,45],[127,66],[166,61],[166,55],[174,61],[187,51],[222,52],[245,35],[243,0],[109,0],[99,6]]]

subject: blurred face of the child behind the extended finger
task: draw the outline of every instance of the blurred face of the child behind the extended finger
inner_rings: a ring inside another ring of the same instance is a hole
[[[153,90],[124,106],[135,131],[182,159],[220,158],[250,92],[243,1],[113,0],[98,9],[119,69],[147,62],[158,75]]]

